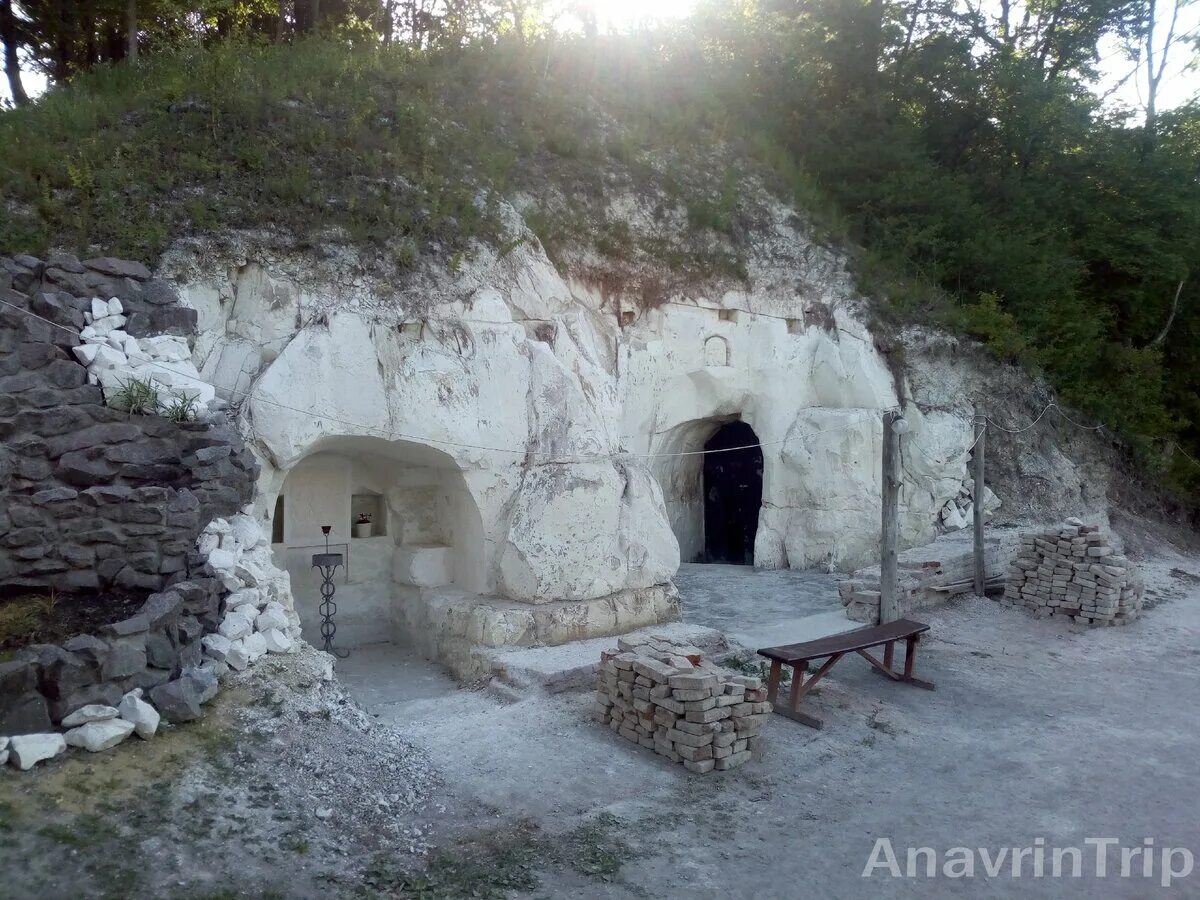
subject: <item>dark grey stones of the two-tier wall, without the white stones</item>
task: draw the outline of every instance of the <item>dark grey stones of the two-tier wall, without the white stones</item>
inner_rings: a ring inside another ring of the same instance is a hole
[[[257,467],[221,416],[175,422],[104,404],[72,353],[97,295],[120,300],[130,334],[194,328],[194,311],[139,264],[0,257],[0,599],[54,590],[113,610],[92,634],[0,662],[5,736],[49,732],[138,690],[184,721],[216,692],[202,638],[230,586],[197,539],[250,503]]]

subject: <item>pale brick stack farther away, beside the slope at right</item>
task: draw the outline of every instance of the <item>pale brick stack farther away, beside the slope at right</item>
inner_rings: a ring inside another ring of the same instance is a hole
[[[1142,582],[1099,526],[1069,518],[1060,528],[1021,535],[1001,602],[1084,625],[1124,625],[1141,613]]]

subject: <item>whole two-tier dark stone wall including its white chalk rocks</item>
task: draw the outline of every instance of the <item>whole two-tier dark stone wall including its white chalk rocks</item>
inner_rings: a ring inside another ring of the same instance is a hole
[[[0,258],[0,590],[100,610],[90,634],[0,661],[0,763],[26,769],[199,718],[299,626],[240,512],[254,458],[211,388],[192,392],[196,312],[140,264],[68,256]],[[106,404],[131,377],[157,383],[150,414]],[[154,414],[180,396],[202,421]]]

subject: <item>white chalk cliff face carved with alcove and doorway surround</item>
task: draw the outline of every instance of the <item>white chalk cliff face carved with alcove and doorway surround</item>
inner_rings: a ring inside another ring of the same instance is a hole
[[[697,451],[732,420],[762,444],[756,565],[876,557],[881,415],[899,406],[902,540],[934,535],[970,408],[901,403],[844,260],[788,210],[749,287],[653,308],[565,277],[510,221],[515,250],[403,289],[269,253],[164,263],[199,311],[192,359],[260,457],[276,560],[304,582],[320,524],[349,553],[346,640],[402,631],[448,658],[676,616],[671,578],[704,548]]]

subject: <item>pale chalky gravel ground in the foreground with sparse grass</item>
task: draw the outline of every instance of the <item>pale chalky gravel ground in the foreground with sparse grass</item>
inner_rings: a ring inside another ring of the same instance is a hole
[[[923,617],[937,691],[846,659],[823,731],[776,716],[728,774],[613,737],[584,694],[505,703],[404,660],[352,698],[314,650],[270,660],[204,722],[0,775],[0,896],[1200,896],[1200,875],[1162,892],[1158,859],[1120,877],[1117,851],[1103,881],[1091,857],[1080,878],[862,875],[880,838],[901,868],[1038,839],[1200,853],[1200,556],[1156,552],[1134,625],[962,598]]]

